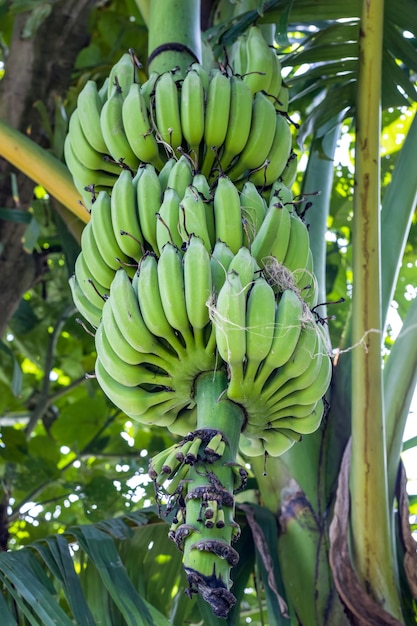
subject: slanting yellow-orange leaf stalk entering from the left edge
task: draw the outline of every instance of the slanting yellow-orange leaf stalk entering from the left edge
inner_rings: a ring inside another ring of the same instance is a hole
[[[24,172],[35,183],[67,207],[83,222],[89,214],[80,204],[80,194],[74,187],[65,165],[34,141],[0,120],[0,156]]]

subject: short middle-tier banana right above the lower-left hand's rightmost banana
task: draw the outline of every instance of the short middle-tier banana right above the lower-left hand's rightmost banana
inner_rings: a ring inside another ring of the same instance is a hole
[[[183,241],[196,235],[204,242],[207,250],[211,251],[206,204],[195,187],[187,187],[180,202],[179,230]]]

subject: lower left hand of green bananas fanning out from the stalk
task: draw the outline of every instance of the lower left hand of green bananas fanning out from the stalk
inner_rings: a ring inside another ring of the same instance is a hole
[[[95,333],[95,373],[132,419],[179,435],[195,427],[194,380],[215,367],[211,292],[210,256],[195,236],[183,255],[171,243],[158,261],[146,253],[132,279],[115,272]]]

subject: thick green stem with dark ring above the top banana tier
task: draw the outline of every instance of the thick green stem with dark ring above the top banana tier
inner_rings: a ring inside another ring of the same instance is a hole
[[[160,74],[201,61],[200,0],[152,0],[148,53],[149,72]]]

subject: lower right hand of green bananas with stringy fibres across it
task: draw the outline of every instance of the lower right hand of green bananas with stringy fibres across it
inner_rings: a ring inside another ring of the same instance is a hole
[[[279,456],[318,428],[332,364],[300,292],[287,287],[277,295],[250,257],[243,248],[232,258],[211,315],[227,396],[247,416],[240,450]]]

